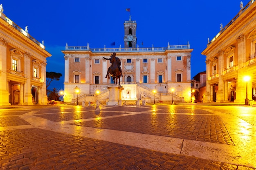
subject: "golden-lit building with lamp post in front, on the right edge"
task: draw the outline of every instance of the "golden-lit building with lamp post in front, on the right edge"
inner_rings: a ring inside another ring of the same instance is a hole
[[[245,103],[246,94],[251,103],[256,99],[255,11],[253,0],[202,51],[207,69],[204,102]],[[250,79],[245,81],[245,76]]]

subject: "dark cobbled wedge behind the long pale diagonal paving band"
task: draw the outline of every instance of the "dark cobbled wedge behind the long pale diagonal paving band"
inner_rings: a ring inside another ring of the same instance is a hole
[[[218,115],[138,114],[74,125],[234,145]]]

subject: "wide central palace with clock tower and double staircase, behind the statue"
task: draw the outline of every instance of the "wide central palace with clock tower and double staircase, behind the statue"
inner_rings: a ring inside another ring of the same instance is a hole
[[[105,78],[110,58],[115,52],[121,60],[123,76],[122,101],[145,100],[153,102],[191,101],[190,45],[169,45],[164,48],[139,48],[136,37],[137,23],[131,18],[124,22],[124,47],[90,49],[87,46],[67,46],[65,51],[64,102],[100,102],[108,100],[107,86],[112,79]],[[79,89],[79,94],[75,89]],[[174,91],[172,91],[172,89]],[[95,95],[99,90],[100,95]],[[153,93],[156,90],[156,93]]]

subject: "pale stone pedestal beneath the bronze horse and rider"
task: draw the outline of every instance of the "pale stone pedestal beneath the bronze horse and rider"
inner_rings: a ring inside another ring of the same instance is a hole
[[[119,105],[122,106],[122,90],[124,90],[123,86],[119,85],[109,85],[108,88],[108,102],[107,105]]]

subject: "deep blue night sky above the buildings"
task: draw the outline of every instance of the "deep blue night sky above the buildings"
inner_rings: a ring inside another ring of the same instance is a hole
[[[244,6],[249,1],[243,1]],[[210,40],[240,10],[240,0],[1,0],[4,14],[52,54],[46,71],[62,73],[50,89],[64,89],[64,54],[68,46],[124,48],[124,21],[137,22],[137,44],[142,47],[167,47],[187,44],[191,49],[191,79],[206,70],[201,52]],[[130,13],[126,11],[130,8]],[[110,44],[115,42],[115,46]],[[136,45],[137,46],[137,45]]]

